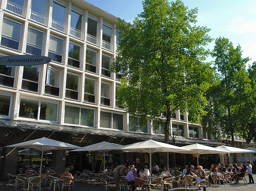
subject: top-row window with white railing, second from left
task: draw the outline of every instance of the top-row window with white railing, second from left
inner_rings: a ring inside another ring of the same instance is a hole
[[[46,0],[32,0],[30,18],[38,23],[46,24]]]

